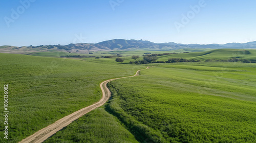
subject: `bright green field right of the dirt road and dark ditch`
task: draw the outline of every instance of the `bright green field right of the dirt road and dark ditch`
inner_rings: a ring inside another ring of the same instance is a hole
[[[111,111],[121,107],[166,141],[255,142],[256,64],[205,64],[163,64],[113,81]]]

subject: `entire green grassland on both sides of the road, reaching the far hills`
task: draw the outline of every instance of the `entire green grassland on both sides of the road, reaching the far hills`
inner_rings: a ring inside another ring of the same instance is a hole
[[[65,53],[52,52],[31,54],[37,56],[0,54],[0,83],[9,85],[8,142],[18,142],[97,102],[102,81],[134,75],[146,66],[151,68],[142,70],[138,77],[110,82],[112,98],[108,103],[45,142],[256,142],[255,63],[134,65],[129,64],[134,61],[132,55],[142,59],[148,51],[104,54],[121,53],[123,63],[116,63],[116,58],[53,58]],[[101,53],[105,52],[90,55]],[[255,50],[184,49],[177,53],[159,56],[158,61],[256,60]]]

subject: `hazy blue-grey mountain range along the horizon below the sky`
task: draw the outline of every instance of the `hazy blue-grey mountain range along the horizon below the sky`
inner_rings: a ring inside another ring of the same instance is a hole
[[[3,49],[8,46],[0,46]],[[18,50],[21,47],[10,46],[13,50]],[[227,44],[180,44],[180,43],[154,43],[143,40],[124,40],[113,39],[99,43],[76,43],[68,45],[39,45],[27,46],[23,49],[44,49],[44,50],[65,50],[65,51],[112,51],[112,50],[177,50],[177,49],[251,49],[256,48],[256,41],[248,43],[227,43]]]

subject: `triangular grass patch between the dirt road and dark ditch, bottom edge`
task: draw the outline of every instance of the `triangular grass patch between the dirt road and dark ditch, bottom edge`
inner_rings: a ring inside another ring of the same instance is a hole
[[[50,142],[138,142],[117,118],[97,108],[44,141]]]

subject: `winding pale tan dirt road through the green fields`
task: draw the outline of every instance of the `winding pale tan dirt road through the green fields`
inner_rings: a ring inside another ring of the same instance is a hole
[[[149,67],[146,67],[145,69],[148,69],[148,68]],[[144,70],[144,69],[140,69],[140,70]],[[129,77],[139,76],[140,70],[138,70],[134,76],[129,76]],[[67,116],[61,118],[60,120],[56,121],[55,123],[37,131],[36,133],[23,139],[20,142],[22,142],[22,143],[23,142],[26,142],[26,143],[32,143],[32,142],[35,143],[36,142],[37,143],[37,142],[45,141],[47,138],[54,135],[57,131],[61,130],[62,128],[68,126],[69,124],[71,124],[73,121],[77,120],[82,115],[105,104],[106,101],[108,101],[109,98],[111,97],[111,92],[110,92],[109,88],[106,87],[106,84],[108,84],[109,82],[116,80],[116,79],[123,79],[123,78],[129,78],[129,77],[115,78],[115,79],[103,81],[102,83],[100,83],[100,88],[102,91],[102,98],[100,99],[99,102],[97,102],[93,105],[90,105],[88,107],[82,108],[70,115],[67,115]]]

